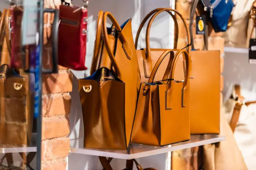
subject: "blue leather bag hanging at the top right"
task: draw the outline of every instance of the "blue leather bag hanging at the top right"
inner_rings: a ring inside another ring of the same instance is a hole
[[[234,2],[233,0],[210,0],[210,2],[212,4],[212,11],[210,11],[212,27],[215,32],[225,32]]]

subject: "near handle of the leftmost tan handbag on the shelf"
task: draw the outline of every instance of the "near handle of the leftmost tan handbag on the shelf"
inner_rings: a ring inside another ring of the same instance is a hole
[[[112,65],[115,68],[115,72],[118,75],[118,77],[120,77],[121,76],[120,69],[117,65],[114,54],[110,50],[111,48],[110,48],[109,41],[108,41],[108,30],[107,30],[107,25],[106,25],[107,18],[109,18],[111,20],[111,22],[113,23],[113,26],[115,26],[115,29],[118,32],[118,38],[120,39],[120,41],[123,44],[123,50],[125,51],[126,56],[131,59],[133,52],[131,51],[130,45],[128,44],[128,41],[126,40],[125,35],[122,32],[122,29],[118,25],[118,22],[115,20],[115,18],[113,17],[113,15],[110,12],[105,12],[103,15],[103,22],[102,22],[103,40],[104,40],[104,44],[105,44],[106,50],[108,52],[108,55],[110,57],[110,60],[112,62]]]

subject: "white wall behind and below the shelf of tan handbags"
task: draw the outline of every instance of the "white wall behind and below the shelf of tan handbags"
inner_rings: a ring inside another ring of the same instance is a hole
[[[119,24],[122,24],[128,18],[132,18],[133,37],[135,39],[141,20],[151,10],[157,7],[170,7],[170,0],[92,0],[89,2],[89,20],[87,33],[87,56],[86,65],[90,69],[93,45],[95,40],[95,29],[97,23],[97,13],[99,10],[109,11],[117,19]],[[73,5],[81,6],[81,0],[73,0]],[[169,16],[165,13],[160,14],[154,21],[151,28],[151,47],[169,48],[173,42],[173,31]],[[145,30],[141,33],[139,40],[139,47],[146,47],[145,45]],[[89,70],[88,69],[88,70]],[[86,72],[88,74],[88,71]],[[82,72],[75,72],[78,78],[84,77]],[[83,137],[82,126],[82,111],[79,101],[79,92],[77,87],[77,80],[74,78],[72,95],[72,110],[70,114],[70,138]],[[147,158],[138,159],[138,162],[144,168],[154,167],[158,170],[166,170],[167,154],[151,156]],[[113,169],[125,168],[125,160],[113,159]],[[69,154],[69,170],[100,170],[102,166],[96,156]]]

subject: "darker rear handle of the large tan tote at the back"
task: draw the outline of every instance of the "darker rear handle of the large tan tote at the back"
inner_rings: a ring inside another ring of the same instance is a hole
[[[156,9],[152,10],[150,13],[148,13],[148,15],[146,15],[146,17],[141,22],[141,25],[138,28],[138,32],[136,34],[136,39],[135,39],[135,48],[136,49],[138,47],[138,38],[140,36],[141,30],[142,30],[143,26],[145,25],[146,21],[148,20],[149,17],[151,17],[151,15],[153,15],[154,13],[156,13],[157,11],[162,10],[162,9],[164,9],[164,8],[159,7],[159,8],[156,8]],[[178,37],[179,37],[179,26],[178,26],[177,18],[175,17],[175,15],[172,14],[171,11],[166,11],[166,12],[169,13],[171,15],[172,19],[174,20],[174,27],[175,27],[174,49],[176,49],[177,48],[177,43],[178,43]]]

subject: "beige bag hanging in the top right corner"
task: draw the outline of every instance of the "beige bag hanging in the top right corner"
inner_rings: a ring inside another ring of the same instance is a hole
[[[248,47],[248,20],[251,5],[254,0],[234,0],[236,6],[232,11],[232,25],[226,32],[223,32],[225,46],[228,47]],[[251,24],[249,24],[251,25]]]

